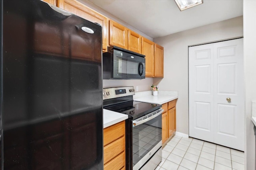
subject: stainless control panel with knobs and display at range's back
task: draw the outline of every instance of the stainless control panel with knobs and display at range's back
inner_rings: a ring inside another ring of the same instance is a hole
[[[103,89],[103,100],[134,95],[134,86]]]

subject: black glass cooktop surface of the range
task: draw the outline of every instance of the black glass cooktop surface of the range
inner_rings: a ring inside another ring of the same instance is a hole
[[[129,101],[126,103],[116,104],[114,106],[107,106],[103,108],[111,111],[116,111],[118,113],[124,113],[128,115],[130,119],[134,120],[152,111],[160,109],[160,107],[162,107],[162,105],[160,104]]]

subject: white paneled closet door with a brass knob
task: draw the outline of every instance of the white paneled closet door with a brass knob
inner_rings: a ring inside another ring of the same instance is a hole
[[[243,39],[189,47],[189,136],[244,150]]]

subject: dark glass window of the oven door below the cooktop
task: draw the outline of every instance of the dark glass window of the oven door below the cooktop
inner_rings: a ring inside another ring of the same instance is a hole
[[[132,166],[162,141],[162,114],[132,128]]]

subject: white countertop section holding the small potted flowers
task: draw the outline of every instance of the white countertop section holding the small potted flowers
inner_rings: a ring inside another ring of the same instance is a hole
[[[134,101],[152,104],[164,104],[178,98],[176,91],[158,90],[158,96],[153,96],[152,91],[135,92]]]

